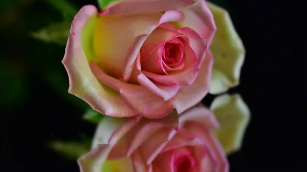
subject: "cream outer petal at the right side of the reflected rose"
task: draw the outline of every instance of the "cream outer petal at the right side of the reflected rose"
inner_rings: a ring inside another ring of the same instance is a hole
[[[240,95],[225,94],[216,97],[211,110],[220,123],[220,130],[214,132],[227,154],[241,147],[246,127],[250,120],[248,106]]]

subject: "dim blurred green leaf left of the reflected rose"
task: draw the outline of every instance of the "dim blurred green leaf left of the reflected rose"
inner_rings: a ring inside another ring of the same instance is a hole
[[[91,142],[91,140],[90,140]],[[58,154],[69,160],[77,160],[80,156],[90,151],[89,141],[51,141],[48,146]]]

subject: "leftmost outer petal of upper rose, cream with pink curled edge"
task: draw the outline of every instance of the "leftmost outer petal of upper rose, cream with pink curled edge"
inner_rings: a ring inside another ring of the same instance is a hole
[[[71,34],[62,63],[69,76],[69,93],[89,103],[94,110],[116,117],[135,116],[136,113],[114,94],[106,85],[101,85],[91,72],[86,55],[81,46],[81,31],[86,22],[97,14],[94,6],[84,6],[72,22]],[[93,18],[95,19],[95,18]]]

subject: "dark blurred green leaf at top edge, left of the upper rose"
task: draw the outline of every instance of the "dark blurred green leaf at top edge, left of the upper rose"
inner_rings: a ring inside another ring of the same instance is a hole
[[[71,20],[74,18],[74,16],[78,13],[78,8],[65,1],[65,0],[44,0],[46,3],[48,3],[50,6],[54,7],[56,10],[58,10],[65,20]]]

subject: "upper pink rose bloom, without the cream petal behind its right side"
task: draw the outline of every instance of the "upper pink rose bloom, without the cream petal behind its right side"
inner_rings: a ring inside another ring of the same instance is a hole
[[[107,116],[180,114],[208,93],[215,30],[203,0],[123,0],[100,13],[84,6],[62,61],[69,92]]]

